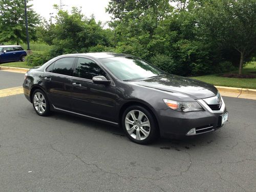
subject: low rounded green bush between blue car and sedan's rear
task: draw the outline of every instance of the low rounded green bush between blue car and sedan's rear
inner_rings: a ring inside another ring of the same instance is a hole
[[[31,67],[41,66],[50,59],[51,57],[47,52],[33,53],[26,57],[28,66],[31,66]]]

